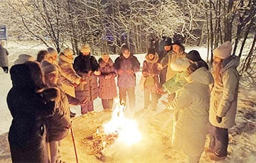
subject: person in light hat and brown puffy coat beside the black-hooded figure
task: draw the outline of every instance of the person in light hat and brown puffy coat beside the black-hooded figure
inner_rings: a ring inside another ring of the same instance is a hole
[[[47,86],[60,89],[60,101],[55,105],[53,116],[47,118],[47,141],[50,144],[50,162],[60,162],[59,145],[68,135],[71,127],[68,97],[58,86],[58,69],[53,64],[43,61],[41,65]]]

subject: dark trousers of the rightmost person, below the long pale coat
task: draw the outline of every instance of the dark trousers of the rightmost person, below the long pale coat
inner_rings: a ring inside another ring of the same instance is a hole
[[[218,157],[227,156],[228,152],[228,129],[218,128],[210,124],[210,149],[215,152]]]

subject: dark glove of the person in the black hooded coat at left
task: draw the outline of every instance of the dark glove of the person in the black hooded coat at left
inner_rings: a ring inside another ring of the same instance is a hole
[[[60,101],[60,90],[58,88],[45,89],[41,95],[46,101]]]

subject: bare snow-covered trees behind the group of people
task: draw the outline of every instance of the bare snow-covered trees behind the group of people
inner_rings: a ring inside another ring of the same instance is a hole
[[[185,45],[213,50],[225,40],[233,40],[233,55],[242,57],[240,70],[255,67],[255,0],[240,1],[137,1],[137,0],[16,0],[1,1],[0,22],[8,26],[9,37],[37,39],[60,51],[69,45],[78,52],[89,43],[95,55],[116,54],[122,43],[132,52],[146,52],[149,40],[183,35]],[[253,73],[252,73],[253,74]]]

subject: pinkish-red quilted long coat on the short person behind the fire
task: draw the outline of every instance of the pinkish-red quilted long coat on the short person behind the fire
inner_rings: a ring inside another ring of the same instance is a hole
[[[99,77],[99,97],[100,99],[114,99],[117,96],[117,86],[114,77],[117,74],[114,72],[114,63],[110,60],[105,62],[100,58],[100,77]]]

